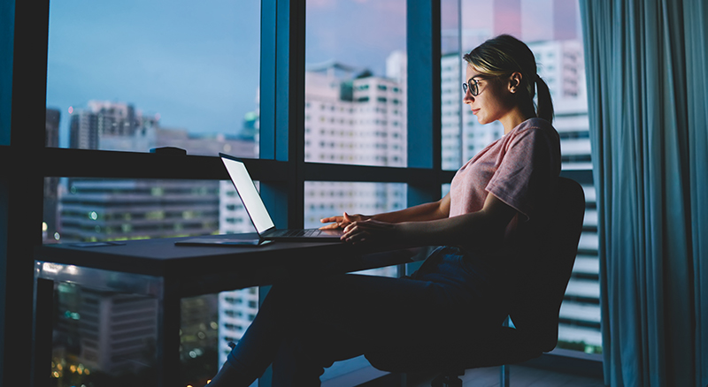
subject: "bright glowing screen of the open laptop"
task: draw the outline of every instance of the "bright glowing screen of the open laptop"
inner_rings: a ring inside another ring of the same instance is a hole
[[[242,162],[236,161],[227,157],[221,157],[221,161],[227,167],[228,175],[231,176],[231,181],[234,182],[236,191],[238,191],[243,207],[248,211],[250,220],[256,226],[256,231],[261,233],[275,227],[273,219],[268,215],[266,205],[263,204],[253,180],[250,178],[249,171],[246,171],[246,166]]]

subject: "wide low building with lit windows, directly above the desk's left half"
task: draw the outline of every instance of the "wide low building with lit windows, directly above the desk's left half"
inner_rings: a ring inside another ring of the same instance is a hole
[[[205,235],[219,230],[219,182],[72,178],[61,199],[61,240]]]

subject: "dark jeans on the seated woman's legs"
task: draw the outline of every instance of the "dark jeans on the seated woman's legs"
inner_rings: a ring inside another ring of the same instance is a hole
[[[381,345],[450,340],[496,322],[495,302],[474,285],[489,282],[485,274],[444,247],[412,277],[348,274],[273,285],[228,361],[253,380],[273,363],[273,385],[319,386],[337,360]]]

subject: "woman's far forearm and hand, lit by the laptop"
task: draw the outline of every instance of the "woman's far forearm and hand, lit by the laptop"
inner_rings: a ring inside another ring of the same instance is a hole
[[[361,222],[369,219],[386,223],[401,223],[430,221],[435,219],[443,219],[448,216],[450,216],[450,194],[446,194],[445,197],[439,201],[433,201],[430,203],[409,207],[407,209],[386,212],[374,216],[349,215],[344,213],[342,216],[325,217],[319,221],[321,223],[330,223],[321,227],[321,229],[343,229],[352,222]]]

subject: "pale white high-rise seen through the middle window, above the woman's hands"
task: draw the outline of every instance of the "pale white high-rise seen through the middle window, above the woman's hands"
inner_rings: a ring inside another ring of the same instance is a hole
[[[305,73],[305,161],[404,167],[407,163],[406,57],[393,52],[387,76],[336,63]],[[382,183],[305,184],[305,226],[349,213],[405,205],[405,186]]]

